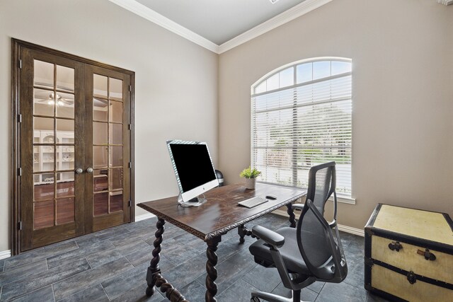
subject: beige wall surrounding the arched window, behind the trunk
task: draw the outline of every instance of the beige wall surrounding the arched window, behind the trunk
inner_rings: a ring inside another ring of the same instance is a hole
[[[377,202],[453,215],[453,6],[335,0],[220,55],[219,167],[250,164],[250,87],[311,57],[352,59],[352,197],[339,222],[363,228]]]

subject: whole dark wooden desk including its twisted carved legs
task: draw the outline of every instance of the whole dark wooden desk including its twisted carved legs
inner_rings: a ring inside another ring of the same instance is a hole
[[[265,195],[273,194],[277,197],[275,200],[270,200],[264,204],[248,209],[241,207],[237,203],[241,200],[255,196],[264,197]],[[239,242],[244,242],[244,236],[251,235],[245,223],[257,219],[260,216],[270,213],[275,209],[287,206],[289,214],[290,226],[295,227],[294,212],[292,210],[292,202],[303,197],[305,191],[279,187],[275,185],[264,185],[257,183],[255,190],[247,190],[241,184],[226,185],[217,187],[205,194],[207,202],[200,207],[179,207],[178,197],[168,197],[164,199],[154,200],[151,202],[143,202],[137,204],[142,209],[145,209],[158,217],[156,223],[156,240],[154,240],[154,250],[152,252],[153,259],[150,262],[147,272],[147,296],[154,294],[154,286],[161,287],[161,291],[166,293],[168,300],[173,302],[182,302],[185,300],[178,290],[174,289],[171,284],[161,276],[159,269],[159,253],[161,252],[162,234],[164,233],[164,224],[166,221],[183,228],[183,230],[192,233],[201,238],[207,243],[207,263],[206,263],[206,301],[217,301],[214,298],[217,294],[217,245],[222,240],[222,235],[238,228]]]

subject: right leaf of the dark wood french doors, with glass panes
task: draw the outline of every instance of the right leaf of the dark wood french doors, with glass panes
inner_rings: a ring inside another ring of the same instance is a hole
[[[130,222],[130,76],[86,66],[86,227]],[[132,89],[131,89],[132,90]],[[91,168],[91,169],[90,169]]]

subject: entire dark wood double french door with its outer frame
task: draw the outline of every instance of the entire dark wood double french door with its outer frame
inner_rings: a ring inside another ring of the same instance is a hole
[[[130,222],[134,73],[18,40],[13,69],[13,252]]]

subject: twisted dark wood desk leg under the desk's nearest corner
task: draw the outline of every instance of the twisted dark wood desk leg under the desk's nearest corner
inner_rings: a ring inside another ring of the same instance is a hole
[[[206,240],[206,302],[217,301],[217,299],[214,298],[215,294],[217,294],[217,284],[215,283],[215,279],[217,279],[217,269],[215,268],[215,265],[217,265],[217,254],[215,253],[215,251],[217,250],[217,245],[219,245],[220,241],[222,241],[222,236],[217,236]]]

